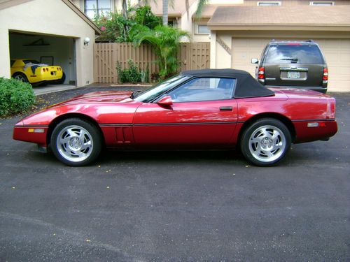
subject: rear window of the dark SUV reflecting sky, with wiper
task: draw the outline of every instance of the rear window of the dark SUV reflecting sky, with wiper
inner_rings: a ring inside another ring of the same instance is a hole
[[[324,64],[317,45],[270,45],[266,64]]]

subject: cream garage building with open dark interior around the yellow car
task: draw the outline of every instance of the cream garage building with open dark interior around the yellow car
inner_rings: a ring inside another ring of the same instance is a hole
[[[10,59],[36,59],[61,66],[66,84],[87,85],[94,80],[98,34],[69,0],[0,0],[0,77],[11,77]]]

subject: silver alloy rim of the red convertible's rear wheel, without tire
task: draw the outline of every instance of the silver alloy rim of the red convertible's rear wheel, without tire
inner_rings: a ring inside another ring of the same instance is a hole
[[[249,138],[249,151],[258,161],[275,161],[285,150],[286,137],[276,126],[259,126]]]

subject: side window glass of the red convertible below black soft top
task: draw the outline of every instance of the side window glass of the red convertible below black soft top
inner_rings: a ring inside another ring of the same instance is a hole
[[[236,79],[195,78],[169,92],[174,102],[232,99]]]

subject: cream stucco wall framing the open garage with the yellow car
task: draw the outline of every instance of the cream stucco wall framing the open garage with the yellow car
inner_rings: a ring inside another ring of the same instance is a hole
[[[94,29],[58,0],[34,0],[0,10],[0,76],[10,78],[8,31],[76,38],[77,85],[93,82]],[[83,39],[90,38],[84,46]]]

